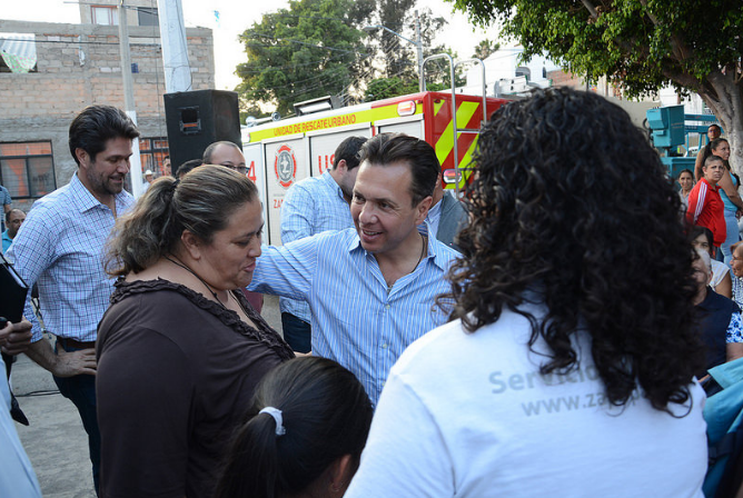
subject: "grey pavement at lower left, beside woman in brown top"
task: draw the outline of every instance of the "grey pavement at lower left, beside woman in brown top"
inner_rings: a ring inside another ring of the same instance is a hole
[[[266,296],[264,318],[281,330],[278,298]],[[16,425],[44,498],[95,498],[88,438],[75,406],[57,391],[51,375],[21,355],[13,390],[31,425]]]

